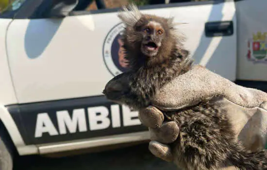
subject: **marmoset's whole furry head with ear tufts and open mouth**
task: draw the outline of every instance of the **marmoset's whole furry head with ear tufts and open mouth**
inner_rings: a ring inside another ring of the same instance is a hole
[[[173,17],[141,14],[135,5],[130,5],[130,9],[124,8],[124,12],[118,14],[125,25],[122,41],[130,69],[165,66],[175,56],[182,56],[178,46],[182,48],[183,39],[175,28]]]

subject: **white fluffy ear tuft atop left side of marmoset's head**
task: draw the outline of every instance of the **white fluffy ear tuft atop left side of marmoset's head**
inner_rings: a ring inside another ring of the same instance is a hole
[[[128,8],[123,6],[123,11],[119,11],[117,16],[122,22],[124,22],[124,24],[126,24],[126,26],[133,27],[135,23],[142,17],[142,14],[134,3],[130,3]]]

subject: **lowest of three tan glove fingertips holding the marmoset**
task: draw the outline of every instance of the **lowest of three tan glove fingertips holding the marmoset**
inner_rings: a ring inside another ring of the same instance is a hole
[[[164,145],[157,141],[151,141],[149,143],[150,152],[158,158],[161,158],[167,162],[173,161],[171,149],[168,145]]]

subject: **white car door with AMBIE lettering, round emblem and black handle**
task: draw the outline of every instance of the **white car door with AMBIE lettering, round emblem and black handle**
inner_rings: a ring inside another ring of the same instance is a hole
[[[31,7],[24,9],[29,15],[17,15],[7,34],[18,100],[14,107],[19,108],[11,110],[14,119],[21,121],[25,142],[42,146],[97,140],[97,146],[148,139],[136,111],[106,101],[101,93],[111,78],[127,70],[120,53],[123,25],[118,9],[94,10],[89,6],[92,10],[74,10],[67,17],[43,17],[36,10],[45,8],[42,5],[46,3],[38,1],[29,0]],[[185,46],[196,63],[235,79],[234,1],[169,3],[140,9],[188,23],[180,30],[187,36]],[[114,140],[107,142],[107,137]],[[92,146],[87,144],[83,147]]]

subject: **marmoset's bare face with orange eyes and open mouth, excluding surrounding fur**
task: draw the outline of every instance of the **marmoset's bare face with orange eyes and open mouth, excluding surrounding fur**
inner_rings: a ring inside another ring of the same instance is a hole
[[[148,24],[141,28],[142,42],[141,51],[148,57],[154,57],[157,55],[162,39],[164,38],[164,29],[160,23],[156,21],[150,21]]]

